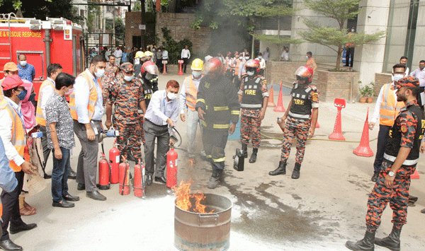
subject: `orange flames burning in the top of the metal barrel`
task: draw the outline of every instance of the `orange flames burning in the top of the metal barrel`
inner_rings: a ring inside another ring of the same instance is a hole
[[[198,214],[211,214],[214,210],[206,211],[207,206],[203,205],[202,202],[205,199],[205,195],[202,192],[196,194],[191,193],[192,181],[180,182],[179,186],[174,187],[176,192],[176,206],[185,211],[192,211]],[[192,205],[191,199],[195,199],[195,205]]]

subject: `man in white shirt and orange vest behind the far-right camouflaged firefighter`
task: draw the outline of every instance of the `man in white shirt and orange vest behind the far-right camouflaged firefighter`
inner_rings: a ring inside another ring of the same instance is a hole
[[[404,107],[403,102],[397,102],[397,95],[395,95],[397,90],[395,90],[394,83],[404,77],[405,67],[404,64],[395,64],[395,66],[392,66],[392,82],[386,83],[380,89],[375,110],[373,110],[373,116],[369,122],[369,129],[372,130],[379,119],[378,146],[376,148],[373,176],[371,179],[373,182],[376,182],[381,170],[388,132],[390,132],[399,110]]]

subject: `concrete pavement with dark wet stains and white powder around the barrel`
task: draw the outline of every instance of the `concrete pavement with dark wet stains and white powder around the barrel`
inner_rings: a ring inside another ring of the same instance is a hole
[[[182,76],[160,76],[160,89],[171,78],[183,83]],[[285,107],[288,100],[285,95]],[[288,161],[288,174],[268,175],[278,165],[282,136],[276,125],[276,117],[281,113],[268,108],[262,127],[264,147],[259,150],[257,162],[246,161],[244,172],[233,170],[231,157],[240,144],[229,141],[224,182],[214,190],[206,187],[211,172],[208,163],[198,158],[195,166],[188,165],[186,124],[179,121],[177,128],[183,136],[183,145],[178,149],[179,181],[191,179],[193,190],[221,194],[232,200],[230,250],[346,250],[346,240],[363,238],[366,201],[374,185],[370,182],[374,158],[352,153],[361,138],[367,107],[371,113],[373,105],[347,104],[342,112],[346,142],[337,142],[327,140],[334,127],[336,108],[331,103],[321,104],[321,127],[314,140],[307,143],[299,180],[290,178],[295,147]],[[374,129],[370,139],[377,135],[378,129]],[[198,139],[200,149],[200,135]],[[106,139],[106,151],[111,145],[112,139]],[[376,140],[370,146],[375,153]],[[79,149],[77,143],[72,156],[74,169]],[[48,165],[51,168],[51,161]],[[402,230],[402,250],[425,250],[425,228],[421,225],[425,215],[420,213],[425,207],[424,158],[418,166],[421,179],[412,181],[410,191],[419,201],[409,208],[408,223]],[[69,188],[73,195],[81,197],[73,209],[51,206],[50,180],[44,191],[29,196],[27,201],[38,209],[38,214],[23,216],[23,220],[38,223],[38,228],[11,235],[11,240],[25,250],[175,250],[174,196],[163,185],[154,183],[147,187],[146,199],[138,199],[132,192],[120,196],[118,185],[113,185],[102,192],[108,197],[106,202],[86,198],[85,192],[77,191],[74,180],[69,180]],[[377,237],[390,233],[391,213],[388,206]]]

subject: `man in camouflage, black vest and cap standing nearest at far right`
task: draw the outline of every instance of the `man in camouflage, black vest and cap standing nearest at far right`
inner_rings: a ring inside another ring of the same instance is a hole
[[[347,241],[346,247],[351,250],[374,250],[374,244],[400,250],[400,233],[402,226],[407,223],[410,175],[416,170],[419,160],[425,120],[416,100],[419,94],[418,79],[404,77],[395,83],[395,88],[397,101],[404,102],[405,107],[400,110],[387,135],[384,160],[368,199],[365,236],[357,242]],[[392,231],[386,238],[375,238],[388,202],[392,209]]]

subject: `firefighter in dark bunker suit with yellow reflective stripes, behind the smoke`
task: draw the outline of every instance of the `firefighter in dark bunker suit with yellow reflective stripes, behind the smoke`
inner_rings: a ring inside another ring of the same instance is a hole
[[[214,189],[225,168],[227,136],[234,132],[239,120],[239,103],[220,59],[208,60],[204,69],[206,75],[199,83],[196,110],[203,126],[204,150],[212,165],[208,188]]]

